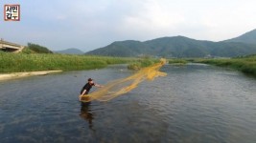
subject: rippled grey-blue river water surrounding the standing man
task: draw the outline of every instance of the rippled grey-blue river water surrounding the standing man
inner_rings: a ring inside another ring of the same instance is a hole
[[[202,64],[161,71],[168,75],[89,104],[78,101],[88,77],[105,84],[132,72],[117,65],[2,81],[0,142],[256,142],[254,77]]]

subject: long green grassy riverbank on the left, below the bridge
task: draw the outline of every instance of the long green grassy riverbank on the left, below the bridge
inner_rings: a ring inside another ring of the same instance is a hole
[[[10,53],[0,51],[0,72],[76,71],[105,68],[110,64],[125,64],[135,58],[106,56]]]

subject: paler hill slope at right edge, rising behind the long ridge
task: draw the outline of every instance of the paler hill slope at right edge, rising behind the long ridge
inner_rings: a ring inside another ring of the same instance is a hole
[[[239,37],[225,40],[224,42],[242,42],[256,45],[256,29],[253,31],[248,31]]]

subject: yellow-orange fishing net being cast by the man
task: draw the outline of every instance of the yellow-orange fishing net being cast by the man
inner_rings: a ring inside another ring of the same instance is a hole
[[[87,95],[80,95],[80,100],[82,102],[89,102],[92,100],[108,101],[119,95],[130,92],[138,87],[139,83],[146,79],[153,80],[155,77],[167,75],[165,72],[159,72],[159,69],[164,64],[166,64],[166,59],[160,59],[159,63],[156,63],[151,67],[144,68],[126,78],[108,82],[103,88],[96,92],[92,92]]]

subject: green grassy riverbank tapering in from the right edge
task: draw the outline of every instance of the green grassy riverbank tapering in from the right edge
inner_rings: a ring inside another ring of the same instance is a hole
[[[230,59],[193,59],[192,62],[228,67],[256,76],[256,55]]]

